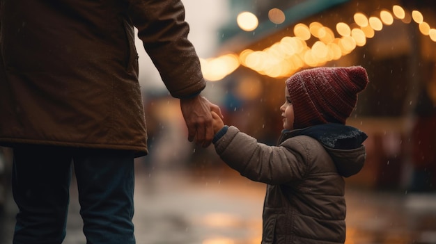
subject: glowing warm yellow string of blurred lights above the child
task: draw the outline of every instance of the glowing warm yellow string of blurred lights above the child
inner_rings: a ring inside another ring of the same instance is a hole
[[[280,24],[285,19],[283,12],[277,8],[270,10],[268,17],[275,24]],[[309,25],[298,23],[293,27],[293,36],[285,36],[263,50],[245,49],[239,54],[201,58],[203,74],[208,81],[219,81],[243,65],[274,78],[290,76],[304,67],[319,67],[350,54],[357,47],[364,47],[368,38],[373,38],[376,31],[382,31],[384,25],[393,24],[394,19],[405,24],[410,24],[413,20],[419,25],[422,35],[428,35],[436,42],[436,29],[424,22],[419,10],[408,13],[403,7],[394,5],[391,10],[381,10],[379,16],[368,17],[364,13],[355,13],[353,19],[355,23],[352,24],[336,24],[338,35],[320,22],[311,22]],[[237,22],[244,31],[253,31],[258,25],[256,15],[249,12],[240,13]],[[317,40],[309,47],[306,41],[312,37]]]

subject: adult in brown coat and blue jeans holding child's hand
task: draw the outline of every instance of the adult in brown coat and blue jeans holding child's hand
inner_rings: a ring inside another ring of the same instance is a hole
[[[148,153],[134,29],[180,99],[188,140],[219,108],[180,0],[0,0],[0,144],[13,147],[14,243],[65,238],[71,162],[87,243],[135,243],[135,156]]]

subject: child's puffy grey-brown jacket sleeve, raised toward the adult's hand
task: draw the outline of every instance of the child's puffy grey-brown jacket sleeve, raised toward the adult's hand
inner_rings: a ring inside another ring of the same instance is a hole
[[[258,143],[236,127],[228,127],[215,142],[215,150],[231,168],[253,181],[277,185],[302,179],[310,162],[309,151],[297,141],[278,147]]]

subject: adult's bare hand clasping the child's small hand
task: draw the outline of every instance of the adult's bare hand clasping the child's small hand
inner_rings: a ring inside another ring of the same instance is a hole
[[[198,95],[192,98],[180,99],[180,108],[188,128],[188,140],[190,142],[195,141],[196,144],[202,147],[208,147],[212,143],[213,136],[215,136],[210,112],[214,111],[217,115],[223,117],[219,106]]]

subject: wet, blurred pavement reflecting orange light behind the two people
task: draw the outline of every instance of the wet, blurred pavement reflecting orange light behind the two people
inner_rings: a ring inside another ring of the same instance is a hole
[[[137,243],[260,243],[265,185],[223,168],[146,172],[137,165]],[[436,243],[436,194],[348,188],[347,244]],[[12,243],[13,201],[0,218],[0,244]],[[72,182],[65,244],[84,244]]]

